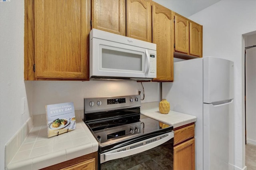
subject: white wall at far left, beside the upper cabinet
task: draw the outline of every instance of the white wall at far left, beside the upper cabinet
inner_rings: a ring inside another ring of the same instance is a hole
[[[0,170],[4,170],[4,147],[29,119],[27,99],[32,85],[23,81],[24,1],[0,2]],[[22,98],[25,113],[22,115]],[[14,146],[15,147],[15,146]]]

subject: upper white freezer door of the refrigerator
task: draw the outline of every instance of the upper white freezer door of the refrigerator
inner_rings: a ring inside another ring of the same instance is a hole
[[[204,103],[234,98],[234,62],[203,57]]]

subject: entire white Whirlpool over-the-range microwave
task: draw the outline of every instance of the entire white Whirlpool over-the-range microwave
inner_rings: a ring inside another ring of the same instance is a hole
[[[156,78],[156,44],[92,29],[90,79]]]

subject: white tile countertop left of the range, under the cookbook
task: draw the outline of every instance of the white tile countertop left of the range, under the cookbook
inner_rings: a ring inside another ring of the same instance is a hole
[[[6,170],[38,170],[98,151],[98,142],[82,120],[76,129],[48,138],[47,126],[33,127]]]

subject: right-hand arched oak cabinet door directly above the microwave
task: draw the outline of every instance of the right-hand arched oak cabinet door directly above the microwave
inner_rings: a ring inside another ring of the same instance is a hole
[[[151,0],[127,0],[127,36],[152,42]]]

